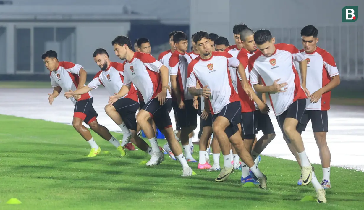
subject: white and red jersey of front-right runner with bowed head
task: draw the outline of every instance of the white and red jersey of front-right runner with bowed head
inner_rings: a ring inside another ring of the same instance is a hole
[[[297,99],[305,99],[306,94],[301,86],[296,67],[293,62],[305,59],[292,44],[275,44],[276,51],[269,58],[261,51],[249,58],[249,78],[252,84],[258,84],[259,79],[265,86],[271,86],[277,79],[279,83],[288,83],[286,92],[269,93],[274,114],[281,115],[290,104]]]

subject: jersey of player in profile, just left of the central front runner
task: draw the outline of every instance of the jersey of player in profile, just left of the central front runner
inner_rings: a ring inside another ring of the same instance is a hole
[[[169,59],[169,75],[177,76],[177,86],[181,94],[182,100],[193,99],[193,95],[190,94],[186,86],[187,83],[187,67],[191,63],[192,58],[189,54],[181,54],[177,50],[173,52]]]

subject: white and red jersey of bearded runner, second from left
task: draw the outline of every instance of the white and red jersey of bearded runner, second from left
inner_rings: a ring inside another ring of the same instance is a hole
[[[104,86],[112,96],[118,93],[123,86],[124,81],[124,65],[122,63],[110,62],[110,66],[105,71],[99,71],[94,79],[87,84],[89,88],[97,89],[100,85]],[[137,89],[131,86],[129,92],[123,98],[130,98],[138,101]]]

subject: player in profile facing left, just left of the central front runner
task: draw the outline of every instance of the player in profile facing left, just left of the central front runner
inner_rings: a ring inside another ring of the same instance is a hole
[[[174,92],[178,124],[181,127],[180,138],[182,148],[187,162],[197,162],[191,155],[189,134],[197,127],[197,110],[193,107],[193,95],[186,87],[187,66],[192,61],[190,55],[185,53],[188,47],[188,37],[186,33],[178,31],[173,35],[175,51],[169,59],[169,74]]]

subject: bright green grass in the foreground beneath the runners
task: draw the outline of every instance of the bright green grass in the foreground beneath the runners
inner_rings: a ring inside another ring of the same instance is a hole
[[[296,162],[262,157],[260,169],[268,177],[268,190],[242,187],[241,173],[224,183],[214,181],[218,172],[197,170],[182,178],[177,161],[159,166],[139,165],[149,160],[142,151],[120,158],[115,147],[93,136],[102,148],[86,158],[90,148],[72,126],[0,115],[0,209],[363,209],[364,173],[331,169],[333,189],[326,204],[300,202],[316,197],[312,185],[297,186]],[[115,134],[120,139],[119,134]],[[165,141],[160,140],[162,145]],[[105,154],[104,151],[109,151]],[[195,147],[194,157],[198,158]],[[211,157],[212,159],[212,157]],[[321,180],[321,166],[315,165]],[[17,198],[20,205],[6,204]]]

